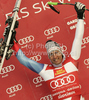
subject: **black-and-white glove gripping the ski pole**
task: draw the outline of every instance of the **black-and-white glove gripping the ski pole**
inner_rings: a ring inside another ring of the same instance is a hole
[[[76,2],[75,3],[75,10],[77,12],[77,18],[78,19],[85,19],[85,5],[80,3],[80,2]]]

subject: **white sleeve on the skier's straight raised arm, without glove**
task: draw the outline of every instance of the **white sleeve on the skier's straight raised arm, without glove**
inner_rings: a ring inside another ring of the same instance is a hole
[[[73,41],[72,50],[70,52],[70,55],[74,60],[78,60],[80,58],[83,34],[84,34],[84,20],[78,19],[75,38]]]

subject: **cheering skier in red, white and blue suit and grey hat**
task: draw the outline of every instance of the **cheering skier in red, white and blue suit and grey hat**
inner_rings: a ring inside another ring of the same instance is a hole
[[[52,65],[41,64],[27,58],[17,43],[13,49],[21,64],[41,75],[48,84],[53,100],[84,100],[81,95],[81,85],[78,79],[77,62],[81,54],[81,44],[84,34],[85,5],[76,2],[77,26],[72,49],[68,57],[62,53],[58,43],[48,40],[46,49]]]

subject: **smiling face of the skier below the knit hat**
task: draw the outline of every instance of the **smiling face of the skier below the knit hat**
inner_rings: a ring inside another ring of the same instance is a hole
[[[62,62],[62,54],[58,50],[52,51],[49,54],[49,59],[51,60],[51,62],[53,64],[58,65],[58,64],[60,64]]]

